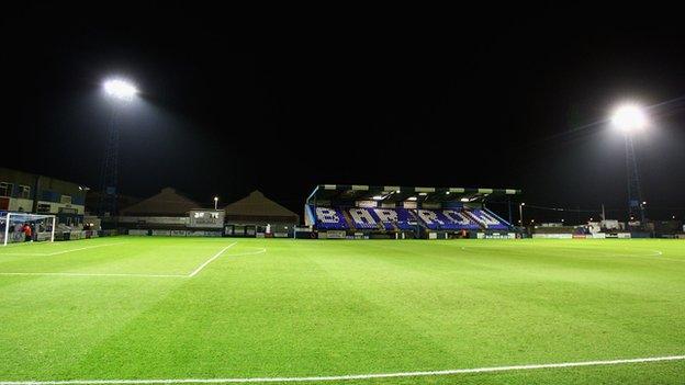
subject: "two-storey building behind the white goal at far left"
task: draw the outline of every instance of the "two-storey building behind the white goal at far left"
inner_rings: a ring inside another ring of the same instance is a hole
[[[0,168],[0,212],[52,214],[60,224],[78,226],[87,190],[78,183]]]

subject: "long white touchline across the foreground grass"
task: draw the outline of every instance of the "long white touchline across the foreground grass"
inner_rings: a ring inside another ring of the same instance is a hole
[[[330,376],[311,376],[311,377],[246,377],[246,378],[171,378],[171,380],[64,380],[64,381],[0,381],[0,385],[126,385],[126,384],[225,384],[225,383],[303,383],[317,381],[346,381],[346,380],[370,380],[370,378],[397,378],[397,377],[425,377],[468,373],[493,373],[509,371],[529,371],[539,369],[560,369],[560,367],[577,367],[577,366],[600,366],[600,365],[619,365],[629,363],[647,363],[663,361],[681,361],[685,360],[685,355],[667,355],[651,356],[642,359],[624,359],[608,361],[581,361],[581,362],[561,362],[548,364],[532,365],[512,365],[512,366],[486,366],[470,369],[453,369],[447,371],[426,371],[426,372],[398,372],[398,373],[375,373],[375,374],[348,374],[348,375],[330,375]]]

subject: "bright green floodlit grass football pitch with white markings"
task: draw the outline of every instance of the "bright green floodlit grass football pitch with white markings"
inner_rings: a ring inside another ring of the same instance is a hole
[[[0,385],[683,384],[685,242],[0,248]]]

